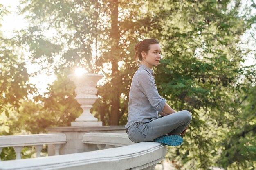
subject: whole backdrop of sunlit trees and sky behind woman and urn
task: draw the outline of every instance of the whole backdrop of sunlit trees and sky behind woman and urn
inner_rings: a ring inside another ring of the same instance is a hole
[[[253,0],[0,0],[0,135],[70,126],[82,113],[73,72],[103,74],[91,112],[126,124],[134,45],[156,38],[158,92],[193,116],[166,158],[177,169],[255,169],[255,13]]]

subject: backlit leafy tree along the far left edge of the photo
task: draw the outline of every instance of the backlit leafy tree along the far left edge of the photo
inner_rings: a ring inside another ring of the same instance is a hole
[[[0,4],[0,27],[4,15],[9,11]],[[22,100],[36,92],[29,84],[25,59],[14,39],[5,38],[0,31],[0,135],[12,135],[11,126],[19,113]],[[0,159],[13,159],[15,152],[4,148]]]

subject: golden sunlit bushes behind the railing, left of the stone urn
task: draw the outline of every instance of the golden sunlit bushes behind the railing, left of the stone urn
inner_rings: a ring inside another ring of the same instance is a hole
[[[46,133],[45,128],[52,126],[70,126],[81,113],[82,109],[77,101],[74,84],[65,76],[59,76],[44,96],[34,97],[34,102],[22,102],[16,117],[18,122],[11,126],[16,133],[25,129],[32,134]],[[13,120],[15,121],[15,120]]]

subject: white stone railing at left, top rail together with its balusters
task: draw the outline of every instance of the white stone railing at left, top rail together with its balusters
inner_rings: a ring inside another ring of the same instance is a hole
[[[65,143],[66,135],[63,133],[0,136],[0,153],[4,147],[13,147],[16,152],[16,159],[21,159],[20,153],[23,146],[35,146],[36,156],[40,157],[43,145],[52,144],[55,148],[55,155],[59,155],[61,144]]]

